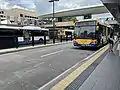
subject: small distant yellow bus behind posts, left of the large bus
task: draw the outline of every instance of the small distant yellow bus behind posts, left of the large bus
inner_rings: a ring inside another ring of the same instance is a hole
[[[70,39],[71,35],[73,38],[74,30],[69,30],[69,29],[58,30],[58,39],[60,39],[61,36],[62,36],[62,39],[66,39],[66,37],[68,37],[68,39]]]

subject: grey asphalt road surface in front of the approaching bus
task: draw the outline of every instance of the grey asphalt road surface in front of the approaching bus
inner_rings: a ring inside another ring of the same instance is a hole
[[[36,90],[93,52],[67,43],[0,55],[0,90]]]

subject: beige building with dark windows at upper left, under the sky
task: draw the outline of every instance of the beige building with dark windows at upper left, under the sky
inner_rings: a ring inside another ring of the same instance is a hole
[[[38,16],[34,11],[24,9],[0,9],[0,21],[4,20],[10,21],[11,24],[28,24],[35,23],[38,20]]]

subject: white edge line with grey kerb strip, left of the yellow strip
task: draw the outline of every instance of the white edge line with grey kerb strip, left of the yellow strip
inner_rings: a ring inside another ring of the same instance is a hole
[[[107,47],[108,47],[108,45],[107,45]],[[86,57],[85,59],[81,60],[77,64],[73,65],[71,68],[67,69],[66,71],[64,71],[63,73],[61,73],[59,76],[55,77],[54,79],[52,79],[51,81],[49,81],[48,83],[46,83],[45,85],[43,85],[42,87],[40,87],[37,90],[50,90],[50,88],[52,88],[54,85],[56,85],[61,80],[63,80],[66,76],[68,76],[70,73],[72,73],[81,64],[83,64],[84,62],[88,61],[90,58],[92,58],[93,56],[95,56],[97,53],[99,53],[103,49],[104,48],[101,48],[100,50],[96,51],[95,53],[89,55],[88,57]]]

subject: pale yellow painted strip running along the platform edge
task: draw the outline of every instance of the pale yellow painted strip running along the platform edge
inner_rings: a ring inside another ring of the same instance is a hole
[[[74,70],[71,74],[69,74],[66,78],[61,80],[58,84],[53,86],[50,90],[64,90],[67,86],[70,85],[83,71],[85,71],[92,63],[94,63],[106,50],[108,50],[109,45],[102,48],[99,53],[91,57],[84,64]]]

